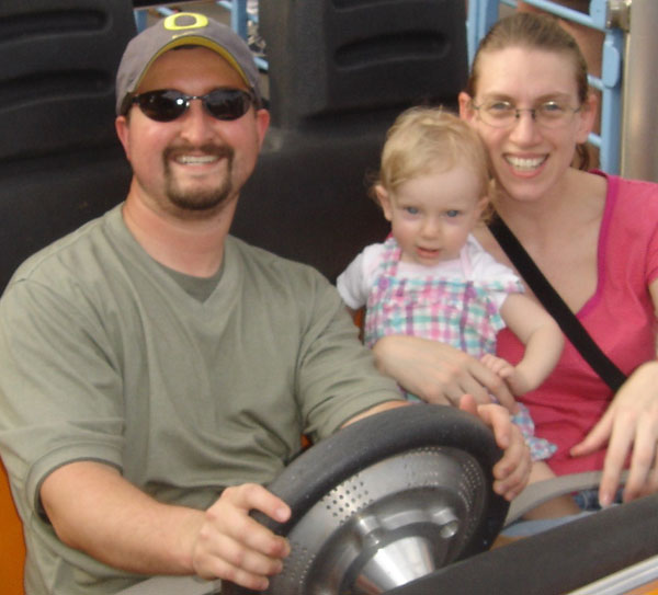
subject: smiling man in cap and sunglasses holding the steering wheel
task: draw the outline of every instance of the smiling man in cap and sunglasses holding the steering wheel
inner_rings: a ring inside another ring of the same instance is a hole
[[[287,542],[261,484],[340,426],[399,407],[333,288],[228,234],[269,124],[243,42],[179,13],[126,48],[125,203],[30,259],[0,302],[0,447],[26,526],[26,592],[152,574],[266,587]],[[474,408],[472,407],[474,410]],[[503,410],[512,497],[527,456]]]

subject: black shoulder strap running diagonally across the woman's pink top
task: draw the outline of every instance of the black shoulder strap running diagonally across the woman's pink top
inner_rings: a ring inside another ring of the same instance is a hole
[[[494,237],[504,250],[510,261],[517,267],[517,271],[525,279],[525,283],[533,290],[534,295],[542,302],[544,308],[551,313],[559,324],[565,335],[578,350],[585,361],[603,379],[603,381],[614,391],[616,391],[626,380],[625,375],[614,365],[613,362],[601,351],[599,345],[586,331],[580,320],[576,317],[569,307],[565,304],[553,285],[540,271],[530,254],[521,245],[521,242],[511,232],[506,222],[496,215],[489,224],[489,229]]]

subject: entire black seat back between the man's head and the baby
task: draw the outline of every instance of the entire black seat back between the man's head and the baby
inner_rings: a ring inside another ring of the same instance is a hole
[[[367,198],[386,130],[420,103],[455,110],[467,76],[457,0],[266,0],[272,127],[234,232],[331,281],[388,224]]]

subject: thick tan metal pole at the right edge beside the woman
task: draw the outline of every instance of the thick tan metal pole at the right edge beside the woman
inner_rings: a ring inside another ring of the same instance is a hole
[[[622,175],[658,182],[658,2],[633,0],[624,60]]]

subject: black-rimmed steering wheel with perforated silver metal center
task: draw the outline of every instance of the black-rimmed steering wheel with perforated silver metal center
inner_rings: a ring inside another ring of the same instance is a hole
[[[418,403],[340,430],[268,487],[291,506],[287,523],[253,513],[292,547],[265,593],[385,593],[488,549],[509,507],[491,488],[500,456],[480,420],[450,407]],[[222,593],[257,592],[224,582]]]

